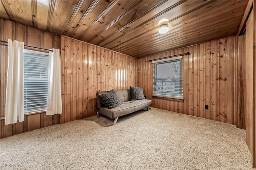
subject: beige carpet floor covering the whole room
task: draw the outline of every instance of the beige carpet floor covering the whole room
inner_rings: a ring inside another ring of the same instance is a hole
[[[233,125],[155,108],[112,123],[93,116],[0,139],[0,169],[252,170]]]

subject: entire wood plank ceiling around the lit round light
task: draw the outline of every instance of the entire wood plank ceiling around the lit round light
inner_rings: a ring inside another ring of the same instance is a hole
[[[1,0],[0,16],[134,57],[236,35],[247,0]],[[168,19],[169,31],[158,33]]]

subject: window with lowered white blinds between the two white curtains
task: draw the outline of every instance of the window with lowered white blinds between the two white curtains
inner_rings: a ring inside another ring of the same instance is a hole
[[[24,50],[24,113],[46,111],[49,54]]]

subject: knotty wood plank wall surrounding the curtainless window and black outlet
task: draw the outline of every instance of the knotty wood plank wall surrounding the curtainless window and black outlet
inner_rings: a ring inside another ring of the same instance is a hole
[[[242,41],[242,40],[240,40]],[[239,52],[244,56],[244,47]],[[183,57],[184,102],[153,99],[153,73],[150,59],[190,52]],[[239,58],[242,60],[243,58]],[[239,61],[241,62],[241,61]],[[243,66],[239,64],[239,71]],[[138,59],[138,86],[143,88],[144,95],[153,101],[152,107],[175,111],[212,119],[220,122],[236,124],[244,128],[243,100],[238,98],[238,37],[228,37],[160,53]],[[238,114],[238,102],[240,112]],[[204,109],[208,105],[209,109]],[[241,107],[241,108],[240,108]]]

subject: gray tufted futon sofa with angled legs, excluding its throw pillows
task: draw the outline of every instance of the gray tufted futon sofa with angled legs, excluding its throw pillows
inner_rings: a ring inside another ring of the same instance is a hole
[[[105,92],[97,92],[97,102],[98,108],[96,109],[97,117],[100,114],[105,115],[114,120],[114,125],[118,120],[118,117],[127,115],[129,113],[133,113],[134,111],[138,111],[143,108],[147,108],[148,106],[152,105],[152,101],[148,99],[141,99],[141,100],[131,100],[130,90],[116,90],[116,94],[118,98],[123,102],[117,107],[109,109],[108,107],[104,106],[100,101],[99,95]]]

